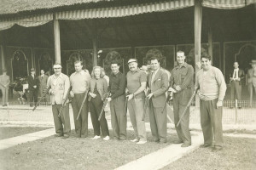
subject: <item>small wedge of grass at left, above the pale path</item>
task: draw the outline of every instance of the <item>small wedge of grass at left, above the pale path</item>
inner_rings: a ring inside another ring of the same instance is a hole
[[[0,139],[8,139],[27,133],[34,133],[49,127],[0,127]]]

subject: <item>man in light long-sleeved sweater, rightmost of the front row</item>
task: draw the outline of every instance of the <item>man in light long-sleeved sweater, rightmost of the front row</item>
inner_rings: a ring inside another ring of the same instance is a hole
[[[201,68],[195,77],[195,89],[199,88],[201,128],[204,136],[201,147],[212,146],[212,151],[218,151],[223,149],[222,106],[227,87],[222,72],[211,65],[209,55],[201,56]],[[212,144],[213,136],[215,144]]]

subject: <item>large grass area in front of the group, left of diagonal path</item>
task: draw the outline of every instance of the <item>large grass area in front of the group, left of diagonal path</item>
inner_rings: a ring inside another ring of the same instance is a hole
[[[86,139],[75,138],[72,134],[68,139],[51,136],[19,144],[0,150],[0,169],[113,169],[166,147],[177,139],[176,133],[168,133],[168,143],[158,144],[152,142],[151,133],[148,133],[148,143],[134,144],[130,141],[134,139],[134,133],[127,133],[125,141],[91,140],[93,132],[90,130],[90,138]]]

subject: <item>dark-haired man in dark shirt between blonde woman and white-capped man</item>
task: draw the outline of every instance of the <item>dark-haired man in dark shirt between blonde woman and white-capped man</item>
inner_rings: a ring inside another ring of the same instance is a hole
[[[117,52],[110,52],[111,55],[119,55]],[[108,91],[111,93],[110,101],[111,125],[113,128],[113,139],[126,139],[127,116],[125,114],[125,86],[126,78],[119,71],[119,61],[111,63],[112,73],[109,77]]]

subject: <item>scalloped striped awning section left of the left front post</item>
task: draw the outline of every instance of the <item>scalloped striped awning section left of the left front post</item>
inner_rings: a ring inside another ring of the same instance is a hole
[[[19,25],[25,27],[42,26],[53,20],[53,14],[40,14],[25,17],[15,17],[11,19],[0,20],[0,31]]]

